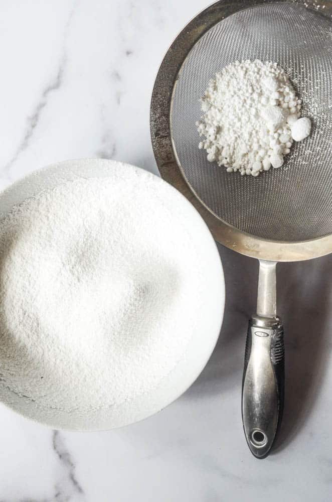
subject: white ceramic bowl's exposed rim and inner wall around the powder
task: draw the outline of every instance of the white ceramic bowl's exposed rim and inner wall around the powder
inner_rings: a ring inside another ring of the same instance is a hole
[[[20,204],[43,189],[54,188],[64,181],[77,177],[109,177],[116,166],[118,168],[119,164],[108,160],[74,160],[37,171],[0,194],[0,218],[3,218],[15,204]],[[124,168],[134,173],[136,181],[137,177],[141,178],[142,183],[147,176],[152,176],[133,166],[125,165]],[[55,409],[41,408],[38,403],[27,397],[13,393],[6,382],[0,382],[0,400],[21,415],[58,429],[91,431],[120,427],[144,419],[169,405],[191,386],[206,365],[217,342],[224,313],[225,283],[219,253],[208,227],[196,209],[175,188],[160,178],[155,178],[158,180],[157,186],[162,187],[163,191],[167,186],[168,198],[174,198],[174,205],[179,209],[179,213],[186,214],[188,228],[195,226],[197,229],[192,236],[193,245],[199,245],[200,254],[204,256],[205,284],[200,283],[200,287],[202,286],[206,292],[206,301],[204,297],[200,306],[192,306],[191,315],[195,317],[195,330],[184,357],[153,392],[140,395],[116,407],[103,408],[88,414],[82,414],[79,410],[68,414]],[[175,218],[174,225],[178,224],[180,224],[178,218]],[[183,222],[181,224],[183,225]],[[200,260],[202,264],[202,256]]]

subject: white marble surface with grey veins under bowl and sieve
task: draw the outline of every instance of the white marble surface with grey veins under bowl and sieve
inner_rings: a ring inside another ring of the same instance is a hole
[[[158,64],[204,0],[3,0],[0,181],[107,157],[156,171]],[[257,264],[220,248],[227,305],[198,381],[158,415],[104,433],[55,432],[0,406],[1,502],[224,502],[332,498],[332,258],[280,265],[286,403],[278,448],[254,459],[240,392]]]

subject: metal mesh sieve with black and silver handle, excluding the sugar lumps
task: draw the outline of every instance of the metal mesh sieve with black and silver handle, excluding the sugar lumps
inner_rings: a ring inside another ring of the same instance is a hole
[[[260,263],[242,383],[244,433],[257,458],[269,453],[283,410],[276,264],[332,252],[331,21],[332,2],[217,2],[173,42],[152,93],[151,138],[161,176],[193,203],[217,241]],[[244,59],[284,68],[313,123],[283,168],[257,178],[209,163],[195,126],[209,79]]]

